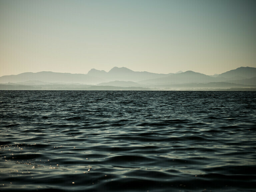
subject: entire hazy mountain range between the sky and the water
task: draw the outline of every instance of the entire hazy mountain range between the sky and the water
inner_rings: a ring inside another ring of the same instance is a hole
[[[12,90],[187,90],[255,87],[254,67],[239,67],[213,76],[194,71],[158,74],[114,67],[109,72],[91,69],[87,74],[42,71],[0,77],[0,89]]]

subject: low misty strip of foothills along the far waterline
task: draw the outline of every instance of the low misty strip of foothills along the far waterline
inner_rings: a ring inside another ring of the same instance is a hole
[[[113,82],[110,82],[113,83]],[[115,82],[116,83],[116,82]],[[125,82],[119,82],[123,86],[108,85],[83,85],[83,84],[54,84],[50,83],[47,85],[21,85],[19,83],[6,83],[0,84],[0,90],[219,90],[219,89],[233,89],[250,88],[254,90],[256,85],[242,85],[228,82],[210,82],[210,83],[184,83],[184,84],[166,84],[166,85],[149,85],[149,86],[138,86],[138,84],[124,84]],[[126,82],[130,83],[130,82]],[[136,86],[133,86],[136,85]]]

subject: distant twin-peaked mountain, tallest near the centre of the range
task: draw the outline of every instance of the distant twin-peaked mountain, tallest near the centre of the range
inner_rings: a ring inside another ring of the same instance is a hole
[[[142,81],[147,79],[156,79],[167,77],[169,74],[158,74],[150,72],[132,71],[126,67],[114,67],[109,72],[91,69],[87,75],[99,77],[106,81]]]

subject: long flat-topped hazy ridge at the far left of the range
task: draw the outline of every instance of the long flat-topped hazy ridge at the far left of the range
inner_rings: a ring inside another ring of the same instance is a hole
[[[83,83],[96,84],[104,82],[99,77],[89,76],[86,74],[72,73],[55,73],[51,71],[42,71],[37,73],[21,73],[18,75],[5,75],[0,77],[0,83],[17,83],[24,81],[44,81],[44,82],[60,82],[60,83]]]

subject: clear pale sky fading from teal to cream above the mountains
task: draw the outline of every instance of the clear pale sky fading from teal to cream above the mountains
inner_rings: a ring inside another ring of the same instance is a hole
[[[0,0],[0,76],[256,67],[255,0]]]

